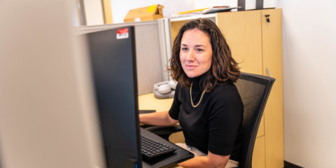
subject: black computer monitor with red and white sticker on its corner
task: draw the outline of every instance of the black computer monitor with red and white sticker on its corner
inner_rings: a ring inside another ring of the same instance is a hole
[[[107,167],[142,167],[134,27],[87,39]]]

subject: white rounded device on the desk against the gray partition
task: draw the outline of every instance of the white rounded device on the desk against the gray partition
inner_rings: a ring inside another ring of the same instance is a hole
[[[154,96],[158,99],[173,98],[175,94],[176,85],[177,82],[175,80],[156,83],[153,89]]]

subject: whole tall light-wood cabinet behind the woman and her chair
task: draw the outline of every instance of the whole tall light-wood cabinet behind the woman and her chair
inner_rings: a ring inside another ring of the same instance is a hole
[[[269,23],[265,15],[269,15]],[[205,16],[204,18],[209,18]],[[255,140],[253,167],[283,167],[283,77],[281,9],[216,13],[212,20],[230,45],[241,71],[271,76],[269,95]],[[188,20],[171,22],[172,40]]]

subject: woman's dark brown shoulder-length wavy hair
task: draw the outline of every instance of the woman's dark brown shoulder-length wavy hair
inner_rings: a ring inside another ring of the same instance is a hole
[[[211,92],[216,85],[225,83],[235,83],[240,76],[239,66],[232,58],[231,50],[217,25],[209,19],[197,19],[186,22],[177,34],[172,57],[169,59],[170,66],[167,71],[171,73],[172,78],[180,83],[184,88],[191,85],[190,78],[183,71],[180,60],[181,39],[184,32],[191,29],[199,29],[207,34],[212,48],[211,67],[200,81],[200,87],[207,92]]]

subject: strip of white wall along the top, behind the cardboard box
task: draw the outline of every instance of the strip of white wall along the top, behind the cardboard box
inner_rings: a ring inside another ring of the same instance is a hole
[[[276,0],[264,0],[264,7],[274,7]],[[170,18],[172,10],[176,13],[195,10],[200,8],[208,8],[211,6],[237,6],[237,0],[111,0],[112,13],[113,13],[113,23],[122,23],[127,15],[128,11],[134,8],[141,8],[145,6],[151,6],[155,4],[160,4],[165,6],[163,8],[163,16],[165,18]],[[246,9],[255,8],[255,0],[246,0]]]

